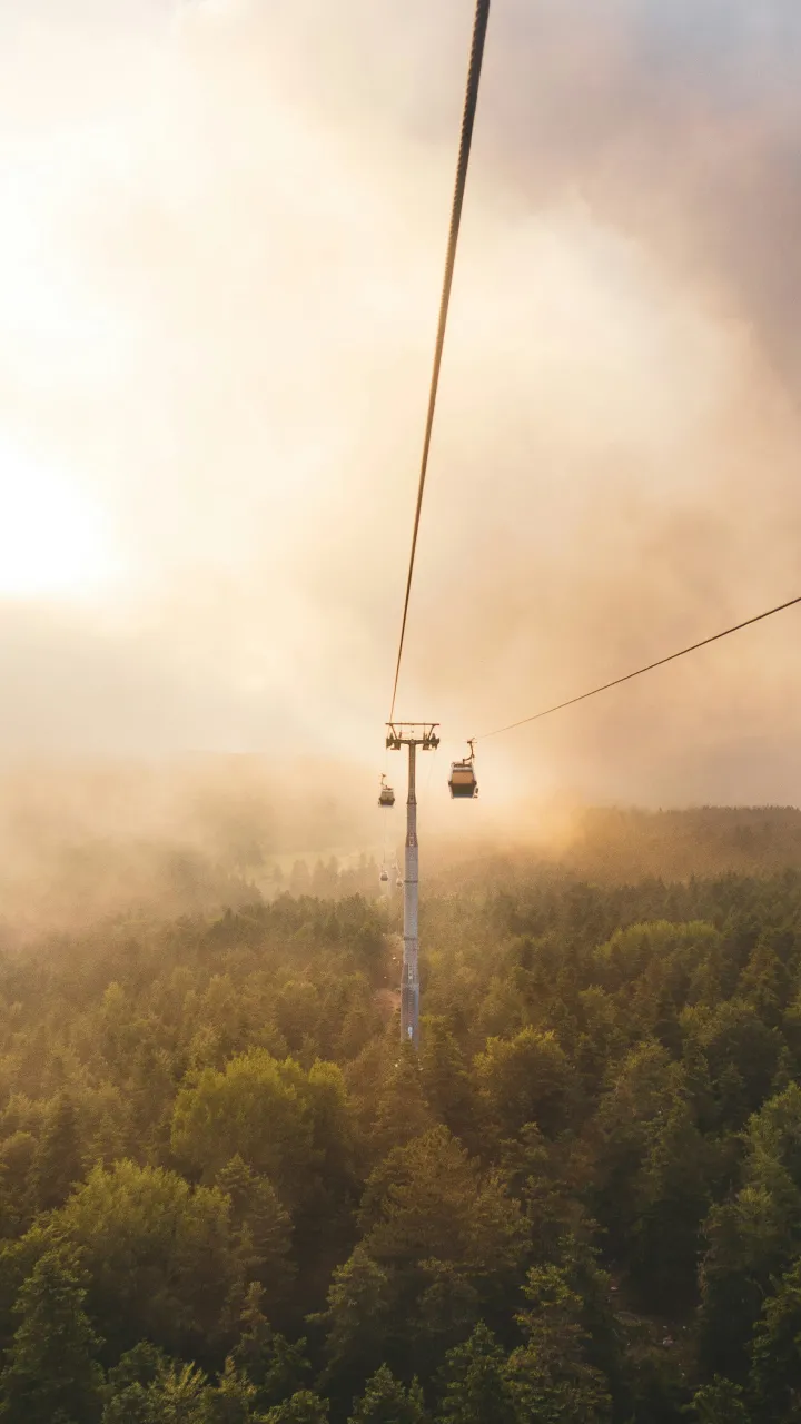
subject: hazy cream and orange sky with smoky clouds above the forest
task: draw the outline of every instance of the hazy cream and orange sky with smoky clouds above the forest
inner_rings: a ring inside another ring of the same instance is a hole
[[[0,0],[0,753],[382,762],[472,0]],[[801,7],[495,0],[398,711],[801,592]],[[482,748],[800,800],[801,614]]]

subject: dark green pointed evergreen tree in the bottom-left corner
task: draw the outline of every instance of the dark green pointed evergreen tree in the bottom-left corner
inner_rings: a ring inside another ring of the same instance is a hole
[[[91,1424],[100,1417],[101,1346],[84,1312],[86,1274],[67,1249],[47,1250],[23,1284],[20,1321],[0,1374],[10,1424]]]

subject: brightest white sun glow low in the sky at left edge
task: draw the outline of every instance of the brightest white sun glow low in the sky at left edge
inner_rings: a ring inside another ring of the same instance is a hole
[[[81,598],[114,572],[101,510],[0,437],[0,597]]]

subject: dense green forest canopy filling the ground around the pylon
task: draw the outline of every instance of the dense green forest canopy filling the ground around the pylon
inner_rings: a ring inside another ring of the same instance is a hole
[[[9,944],[0,1418],[801,1420],[801,870],[771,847],[438,879],[419,1054],[369,890]]]

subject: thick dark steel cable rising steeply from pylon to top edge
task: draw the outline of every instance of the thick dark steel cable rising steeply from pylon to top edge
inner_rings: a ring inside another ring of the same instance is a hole
[[[465,201],[465,185],[467,182],[467,164],[470,159],[470,144],[473,140],[473,122],[479,101],[479,80],[482,77],[482,61],[485,53],[485,38],[489,20],[490,0],[477,0],[476,17],[473,21],[473,40],[470,44],[470,64],[467,68],[467,88],[465,91],[465,111],[462,115],[462,134],[459,138],[459,161],[456,165],[456,188],[453,191],[453,206],[450,211],[450,231],[448,234],[448,253],[445,259],[445,281],[439,302],[439,325],[436,330],[436,346],[433,356],[433,372],[429,389],[429,407],[426,417],[426,431],[423,439],[423,454],[420,460],[420,478],[418,484],[418,504],[415,508],[415,525],[412,530],[412,551],[409,554],[409,572],[406,575],[406,594],[403,598],[403,618],[400,621],[400,641],[398,645],[398,662],[395,665],[395,682],[392,686],[392,708],[389,721],[395,718],[395,701],[398,698],[398,679],[400,676],[400,659],[403,656],[403,639],[406,637],[406,618],[409,614],[409,595],[412,592],[412,575],[415,572],[415,554],[418,551],[418,531],[420,527],[420,510],[423,507],[423,490],[429,463],[430,436],[433,429],[433,413],[436,410],[436,393],[439,389],[439,369],[442,366],[442,349],[445,346],[445,329],[448,325],[448,306],[450,302],[450,288],[453,285],[453,266],[456,262],[456,246],[459,242],[459,224],[462,221],[462,205]]]

